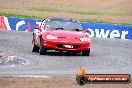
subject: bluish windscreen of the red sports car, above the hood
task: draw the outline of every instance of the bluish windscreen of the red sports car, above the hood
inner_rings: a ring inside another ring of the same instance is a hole
[[[64,30],[79,29],[82,30],[82,26],[78,21],[54,19],[48,20],[45,29],[61,28]]]

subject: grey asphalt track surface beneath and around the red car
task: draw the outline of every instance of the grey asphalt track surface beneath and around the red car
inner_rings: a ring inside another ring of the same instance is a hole
[[[25,66],[1,67],[0,75],[74,75],[82,65],[87,73],[132,74],[132,41],[93,38],[90,56],[31,52],[32,33],[0,31],[0,52],[25,58]]]

